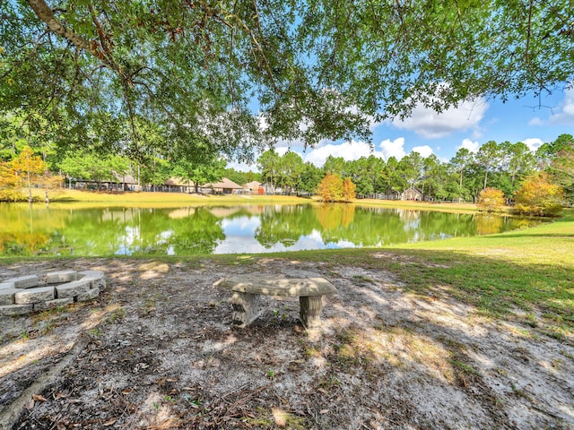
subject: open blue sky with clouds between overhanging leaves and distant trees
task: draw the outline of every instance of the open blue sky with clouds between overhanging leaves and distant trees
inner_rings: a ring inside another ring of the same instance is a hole
[[[317,167],[329,155],[344,159],[359,159],[370,154],[387,160],[401,159],[413,150],[423,157],[434,153],[448,161],[457,150],[465,147],[476,151],[484,142],[525,142],[536,150],[544,142],[552,142],[562,133],[574,134],[574,89],[556,90],[540,99],[526,97],[500,100],[477,99],[437,115],[429,109],[415,107],[413,115],[404,121],[386,121],[371,125],[373,148],[366,142],[320,142],[305,150],[301,142],[279,142],[279,154],[289,149],[304,161]],[[257,170],[257,166],[230,163],[238,170]]]

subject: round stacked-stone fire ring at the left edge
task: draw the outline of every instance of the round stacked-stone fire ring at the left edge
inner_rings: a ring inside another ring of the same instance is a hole
[[[52,271],[0,280],[0,316],[45,311],[91,300],[106,289],[103,271]]]

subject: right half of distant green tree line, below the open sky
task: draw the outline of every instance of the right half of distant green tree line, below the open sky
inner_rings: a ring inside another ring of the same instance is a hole
[[[524,142],[485,142],[475,153],[461,148],[448,162],[431,154],[423,158],[411,152],[402,159],[387,160],[374,155],[355,160],[329,156],[321,168],[288,151],[279,156],[265,151],[257,164],[263,179],[283,192],[314,193],[326,173],[350,178],[358,197],[398,198],[409,187],[417,188],[424,200],[476,202],[486,188],[500,189],[512,199],[526,177],[546,172],[561,185],[567,200],[574,202],[574,139],[561,134],[535,152]]]

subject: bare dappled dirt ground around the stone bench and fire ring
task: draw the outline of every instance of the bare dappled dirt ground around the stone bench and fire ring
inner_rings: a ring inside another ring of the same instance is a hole
[[[446,291],[415,296],[386,271],[78,259],[4,264],[0,280],[65,269],[104,271],[109,288],[0,321],[1,429],[574,429],[570,342]],[[251,272],[332,282],[322,328],[273,297],[231,326],[213,283]]]

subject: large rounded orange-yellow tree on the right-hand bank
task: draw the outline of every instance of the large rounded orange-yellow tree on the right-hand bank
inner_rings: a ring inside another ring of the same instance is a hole
[[[527,177],[514,194],[514,199],[517,212],[544,217],[562,210],[564,191],[560,185],[552,184],[545,172],[541,172]]]

